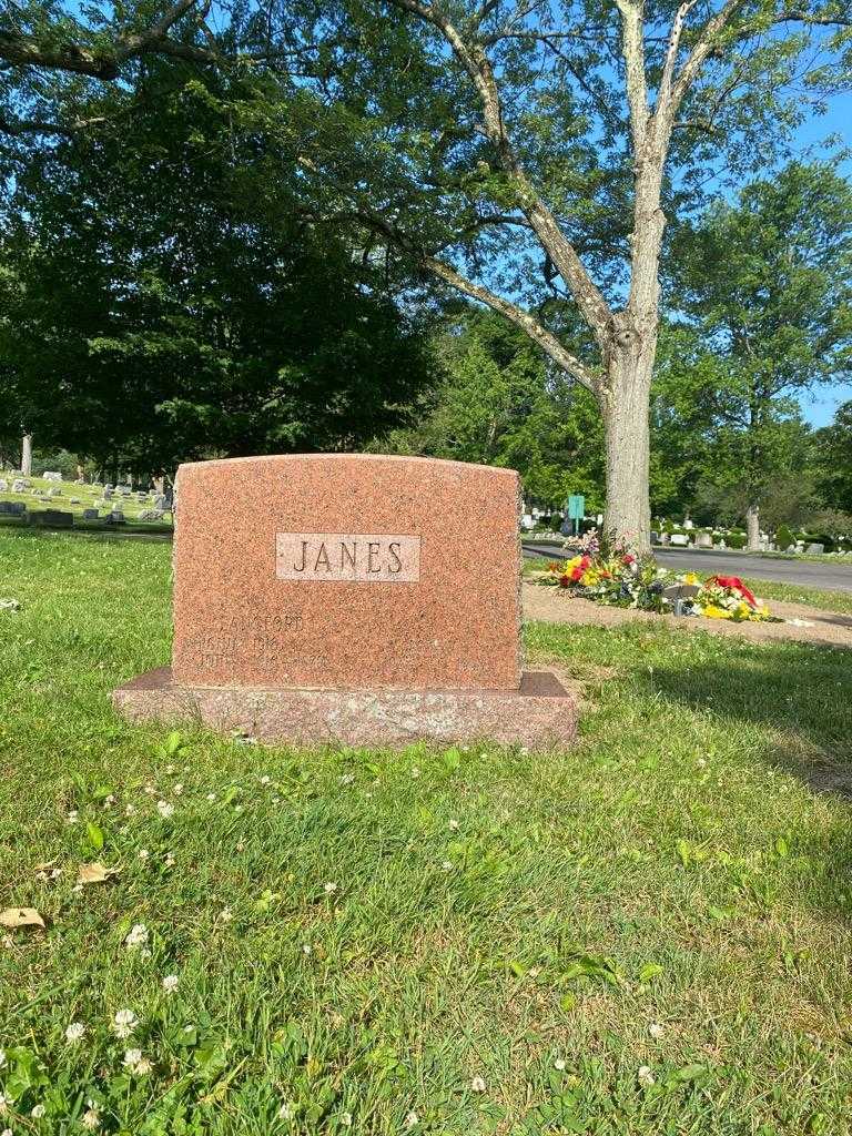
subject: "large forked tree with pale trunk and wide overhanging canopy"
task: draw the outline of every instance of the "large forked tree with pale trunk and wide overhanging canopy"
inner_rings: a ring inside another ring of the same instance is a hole
[[[16,0],[0,100],[25,164],[30,139],[143,102],[157,60],[250,81],[235,122],[299,166],[318,217],[490,304],[593,393],[607,527],[645,544],[666,222],[777,157],[845,83],[851,22],[850,0]]]

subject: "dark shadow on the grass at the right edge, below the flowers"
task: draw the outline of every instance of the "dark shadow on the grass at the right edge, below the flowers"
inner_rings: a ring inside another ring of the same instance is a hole
[[[648,683],[658,696],[730,720],[734,732],[737,722],[769,729],[766,760],[852,800],[852,652],[787,644],[688,668],[673,659],[658,662]]]

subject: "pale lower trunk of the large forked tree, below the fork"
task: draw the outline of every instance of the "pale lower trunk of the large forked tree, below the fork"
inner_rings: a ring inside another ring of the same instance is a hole
[[[620,335],[610,359],[601,412],[607,446],[607,509],[603,537],[609,546],[651,551],[649,500],[649,400],[655,335]]]

